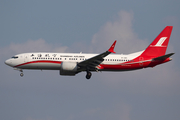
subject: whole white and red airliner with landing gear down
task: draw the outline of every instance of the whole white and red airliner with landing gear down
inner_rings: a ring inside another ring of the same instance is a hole
[[[143,51],[131,54],[111,54],[114,52],[116,40],[111,47],[101,54],[84,53],[22,53],[5,61],[5,64],[19,70],[23,69],[59,70],[60,75],[75,76],[86,72],[90,79],[91,72],[98,71],[130,71],[155,67],[172,60],[174,53],[165,54],[173,26],[166,26],[154,41]]]

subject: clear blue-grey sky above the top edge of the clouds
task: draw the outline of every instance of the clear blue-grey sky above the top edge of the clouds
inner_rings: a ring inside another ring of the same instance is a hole
[[[1,1],[0,32],[1,40],[5,41],[1,46],[39,38],[54,44],[89,43],[92,35],[120,10],[133,12],[134,30],[140,38],[150,38],[149,32],[158,29],[156,34],[167,25],[163,19],[179,18],[179,3],[177,0]]]

